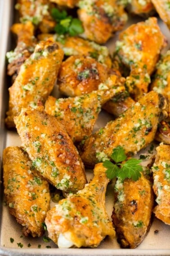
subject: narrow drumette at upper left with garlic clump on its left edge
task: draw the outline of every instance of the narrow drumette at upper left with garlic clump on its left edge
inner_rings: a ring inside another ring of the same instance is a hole
[[[11,27],[11,31],[18,37],[14,51],[7,53],[7,57],[9,57],[7,74],[13,76],[14,81],[19,73],[20,66],[34,51],[36,38],[34,37],[34,26],[31,21],[27,21],[25,24],[15,23]]]

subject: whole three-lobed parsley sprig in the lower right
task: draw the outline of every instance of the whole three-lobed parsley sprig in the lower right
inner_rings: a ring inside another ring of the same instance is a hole
[[[117,146],[113,149],[111,158],[115,163],[112,163],[109,160],[103,162],[103,166],[107,168],[106,174],[109,179],[119,177],[121,180],[131,178],[133,181],[137,181],[139,177],[141,177],[140,172],[143,171],[143,168],[140,165],[141,160],[130,158],[125,163],[121,163],[127,158],[125,149],[121,146]]]

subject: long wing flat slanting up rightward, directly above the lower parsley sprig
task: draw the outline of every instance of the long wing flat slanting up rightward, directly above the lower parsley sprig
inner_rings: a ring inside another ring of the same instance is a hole
[[[118,145],[127,155],[145,148],[154,139],[159,117],[167,115],[166,104],[166,99],[154,91],[144,95],[120,117],[85,140],[81,152],[83,162],[93,165],[108,159]]]

